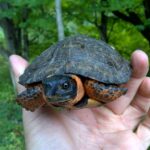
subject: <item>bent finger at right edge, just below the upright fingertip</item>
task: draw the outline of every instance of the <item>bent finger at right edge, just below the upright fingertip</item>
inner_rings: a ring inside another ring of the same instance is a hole
[[[137,110],[144,114],[148,112],[150,108],[150,78],[146,77],[133,100],[132,104]]]

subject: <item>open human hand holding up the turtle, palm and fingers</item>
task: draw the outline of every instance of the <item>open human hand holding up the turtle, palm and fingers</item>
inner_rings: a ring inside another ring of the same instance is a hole
[[[10,57],[16,82],[28,66],[17,55]],[[150,78],[148,57],[136,50],[128,92],[105,106],[35,112],[23,109],[27,150],[146,150],[150,145]],[[24,87],[17,84],[18,93]]]

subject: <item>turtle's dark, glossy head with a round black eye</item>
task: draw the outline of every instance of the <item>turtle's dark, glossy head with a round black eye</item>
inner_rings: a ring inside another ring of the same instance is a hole
[[[54,75],[42,81],[48,102],[65,102],[76,97],[76,81],[68,75]]]

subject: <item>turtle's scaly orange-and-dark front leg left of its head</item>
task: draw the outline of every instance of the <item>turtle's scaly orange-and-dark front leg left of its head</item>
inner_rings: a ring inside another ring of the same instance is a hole
[[[27,88],[16,99],[26,110],[34,111],[45,104],[45,98],[40,87]]]

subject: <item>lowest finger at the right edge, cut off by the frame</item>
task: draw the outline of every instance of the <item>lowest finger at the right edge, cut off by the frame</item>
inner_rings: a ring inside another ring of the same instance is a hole
[[[150,110],[145,120],[137,128],[136,134],[141,139],[145,149],[147,149],[150,143]]]

